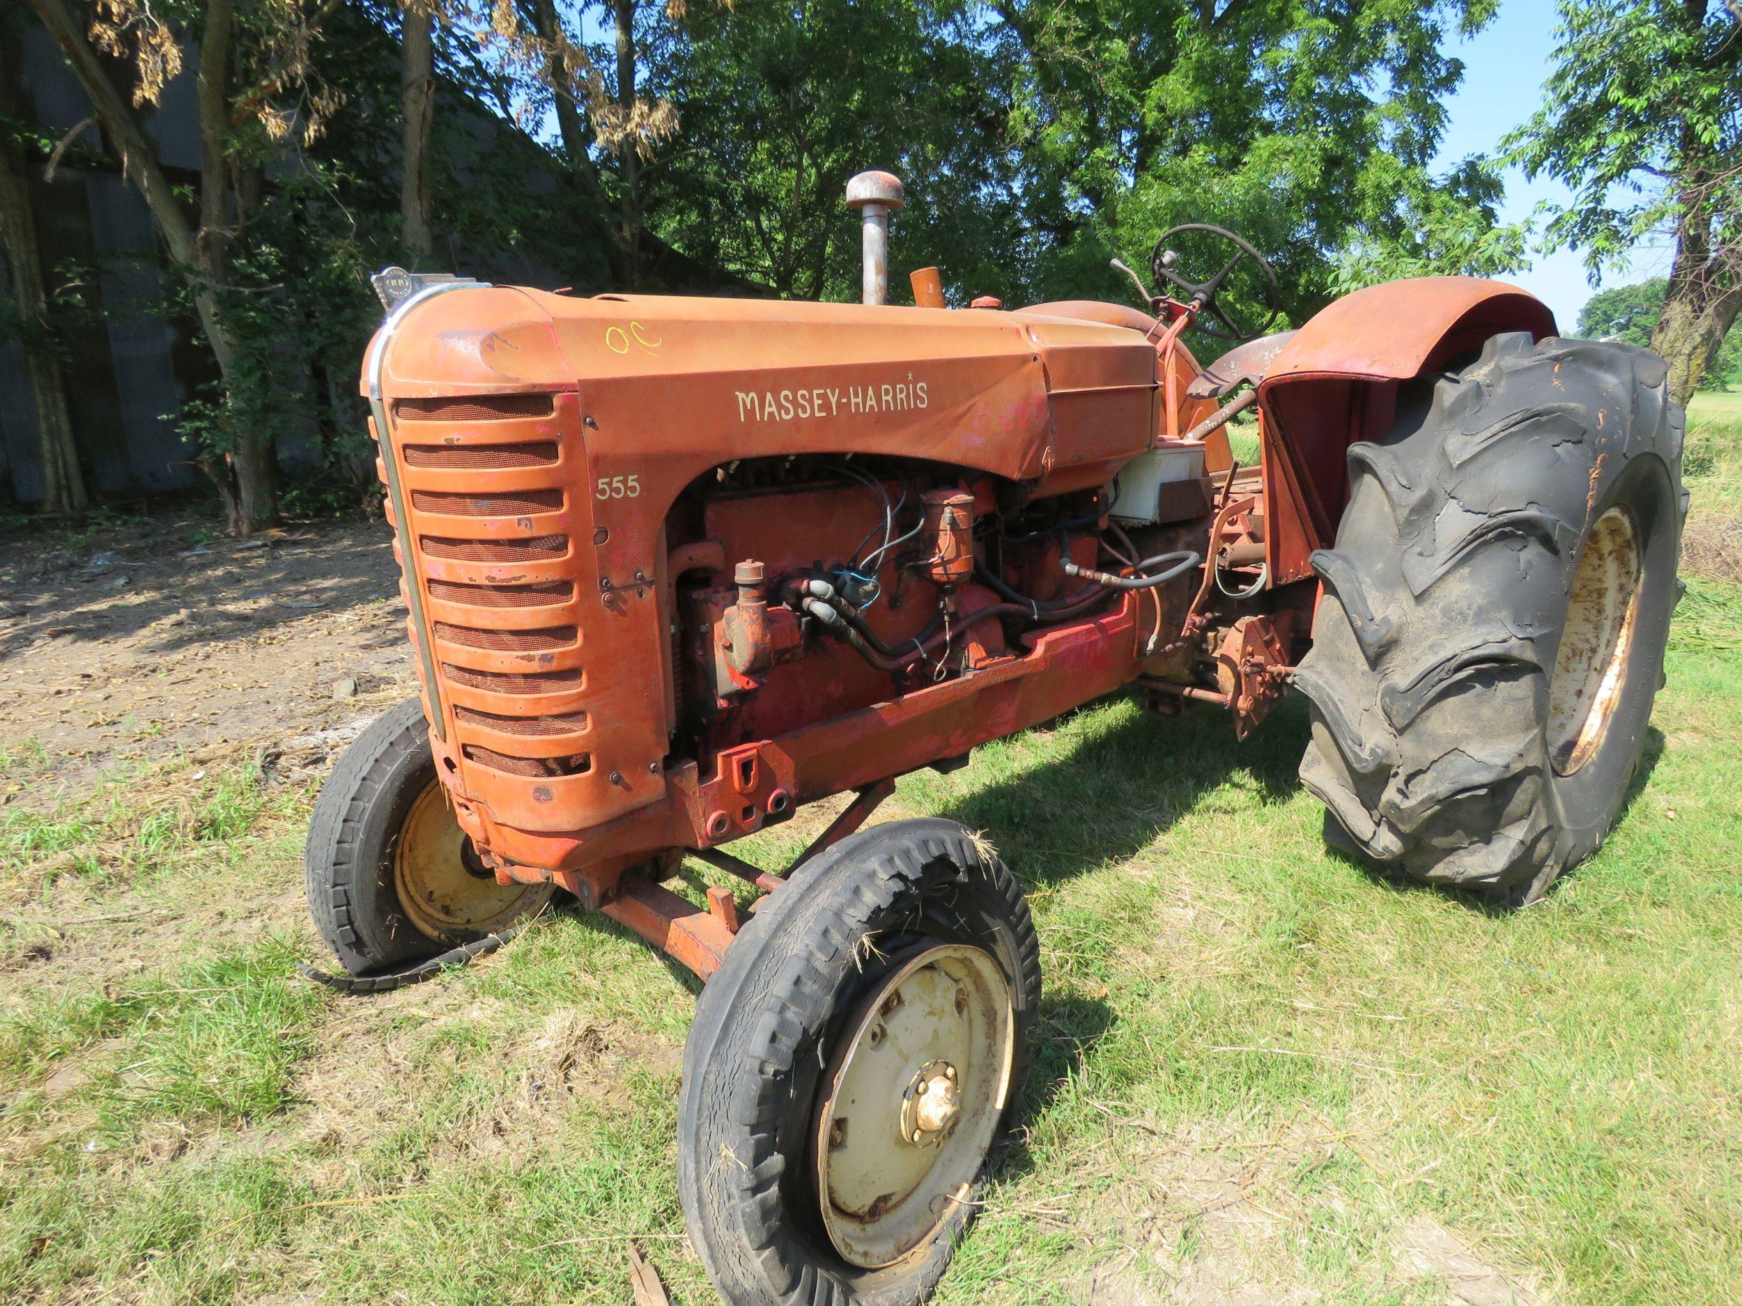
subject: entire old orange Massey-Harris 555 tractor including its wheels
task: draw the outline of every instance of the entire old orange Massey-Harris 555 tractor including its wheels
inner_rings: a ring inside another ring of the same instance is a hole
[[[422,700],[308,841],[345,987],[556,890],[706,980],[678,1174],[740,1306],[923,1299],[1023,1083],[1023,893],[960,825],[864,829],[895,777],[1127,688],[1244,737],[1293,688],[1331,843],[1531,902],[1622,806],[1686,507],[1664,362],[1510,286],[1374,286],[1200,369],[1188,326],[1252,334],[1230,279],[1275,306],[1232,233],[1164,237],[1144,312],[946,308],[935,270],[908,308],[899,183],[848,204],[862,305],[376,279]],[[1218,240],[1193,280],[1176,246]],[[786,874],[726,852],[843,792]],[[685,857],[761,897],[669,890]]]

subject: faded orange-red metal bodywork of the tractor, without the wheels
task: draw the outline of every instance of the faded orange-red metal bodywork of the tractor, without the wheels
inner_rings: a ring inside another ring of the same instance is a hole
[[[1388,374],[1373,369],[1432,366],[1533,303],[1463,282],[1387,294],[1354,317],[1326,310],[1331,326],[1308,324],[1279,357],[1261,488],[1223,477],[1207,542],[1205,515],[1138,531],[1132,557],[1207,543],[1242,566],[1259,549],[1273,580],[1305,575],[1303,550],[1341,510],[1347,442],[1388,420],[1390,392],[1373,385]],[[1219,700],[1249,726],[1279,688],[1287,611],[1232,629],[1209,575],[1078,608],[1059,564],[1094,569],[1096,529],[998,561],[998,583],[1035,596],[1031,616],[976,571],[977,521],[1002,531],[1057,498],[1061,517],[1092,522],[1127,461],[1216,411],[1186,392],[1198,369],[1183,322],[1084,303],[1007,313],[503,287],[411,305],[371,350],[376,435],[460,825],[498,874],[554,879],[706,977],[735,912],[652,883],[671,850],[716,850],[861,791],[810,857],[857,829],[890,777],[1146,669],[1183,683],[1218,648],[1233,679]],[[1397,340],[1338,353],[1331,327]],[[904,656],[801,636],[805,594],[782,587],[847,583],[841,568],[888,531],[894,503],[927,505],[918,543],[880,550],[864,564],[874,576],[852,583],[874,589],[874,634]],[[1066,615],[1043,616],[1047,603]],[[1167,693],[1181,691],[1211,693]]]

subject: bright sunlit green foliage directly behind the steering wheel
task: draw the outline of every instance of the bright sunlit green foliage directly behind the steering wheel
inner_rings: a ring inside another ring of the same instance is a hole
[[[1252,239],[1294,319],[1364,280],[1523,263],[1523,233],[1495,230],[1491,169],[1428,171],[1463,71],[1442,42],[1491,0],[996,12],[1019,66],[1014,139],[1050,183],[1035,221],[1071,251],[1043,268],[1049,293],[1110,293],[1110,273],[1085,273],[1183,221]]]

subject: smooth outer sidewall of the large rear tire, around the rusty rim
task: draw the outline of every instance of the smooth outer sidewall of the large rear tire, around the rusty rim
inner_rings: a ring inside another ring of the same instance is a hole
[[[1603,843],[1627,801],[1634,770],[1644,752],[1651,705],[1664,681],[1664,646],[1676,609],[1676,562],[1681,550],[1679,512],[1669,468],[1657,454],[1639,454],[1620,467],[1606,486],[1597,486],[1590,522],[1610,508],[1627,508],[1643,542],[1639,594],[1632,646],[1622,691],[1603,742],[1571,775],[1552,775],[1550,792],[1561,815],[1557,864],[1573,865]],[[1589,535],[1587,535],[1589,540]],[[1580,557],[1583,554],[1580,542]],[[1568,575],[1578,569],[1575,557]],[[1563,618],[1564,618],[1563,611]],[[1559,653],[1559,637],[1554,644]],[[1554,665],[1552,658],[1550,663]]]

